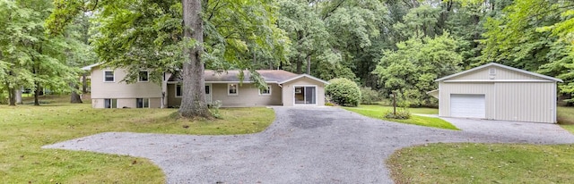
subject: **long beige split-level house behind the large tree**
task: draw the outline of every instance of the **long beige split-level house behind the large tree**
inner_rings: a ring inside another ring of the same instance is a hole
[[[149,79],[149,71],[140,71],[135,83],[121,81],[126,70],[102,68],[100,64],[83,67],[91,71],[91,105],[93,108],[164,108],[181,103],[181,79],[164,73],[161,84]],[[205,100],[219,100],[224,107],[265,105],[325,105],[325,80],[308,74],[282,70],[257,71],[268,86],[257,88],[249,81],[250,73],[239,80],[239,71],[204,71]]]

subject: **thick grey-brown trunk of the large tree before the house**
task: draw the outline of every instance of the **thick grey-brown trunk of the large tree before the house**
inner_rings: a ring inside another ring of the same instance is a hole
[[[184,40],[194,39],[198,45],[185,47],[184,55],[188,60],[183,63],[183,85],[181,86],[181,106],[178,113],[182,117],[211,117],[205,102],[204,63],[200,56],[204,43],[204,28],[201,19],[201,0],[182,0]]]

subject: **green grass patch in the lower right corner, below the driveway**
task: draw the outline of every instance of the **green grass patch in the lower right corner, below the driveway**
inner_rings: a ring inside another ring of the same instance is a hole
[[[574,146],[430,144],[387,160],[396,183],[574,183]]]

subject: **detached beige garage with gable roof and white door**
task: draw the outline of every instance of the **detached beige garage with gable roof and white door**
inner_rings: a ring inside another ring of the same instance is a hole
[[[488,63],[436,79],[439,116],[556,122],[556,79]]]

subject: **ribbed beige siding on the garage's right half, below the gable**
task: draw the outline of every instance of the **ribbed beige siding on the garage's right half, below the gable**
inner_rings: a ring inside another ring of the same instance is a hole
[[[555,122],[555,83],[496,83],[494,88],[496,120]]]

